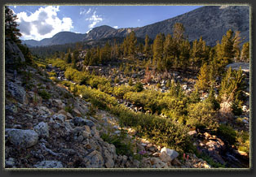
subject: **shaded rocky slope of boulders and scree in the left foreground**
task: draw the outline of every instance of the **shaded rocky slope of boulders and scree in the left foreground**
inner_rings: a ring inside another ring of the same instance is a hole
[[[16,54],[22,53],[17,49]],[[15,63],[11,55],[6,61]],[[89,102],[54,84],[46,71],[26,66],[15,75],[8,67],[5,74],[6,168],[210,168],[195,154],[180,162],[174,149],[153,145],[130,127],[121,129],[116,117],[91,110]],[[117,153],[104,135],[123,136],[134,155]]]

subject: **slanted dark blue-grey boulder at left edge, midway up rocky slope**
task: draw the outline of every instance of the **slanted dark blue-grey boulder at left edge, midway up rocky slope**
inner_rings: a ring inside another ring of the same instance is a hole
[[[8,91],[11,93],[11,96],[15,97],[17,101],[20,101],[20,103],[24,104],[26,97],[26,91],[24,90],[24,88],[13,82],[9,82],[7,84],[7,87]]]

